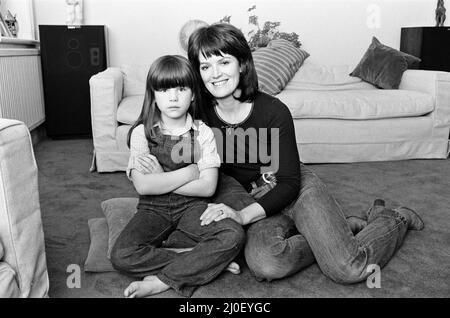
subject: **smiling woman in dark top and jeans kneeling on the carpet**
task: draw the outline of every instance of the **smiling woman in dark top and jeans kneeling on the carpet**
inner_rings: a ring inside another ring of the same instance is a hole
[[[368,210],[367,222],[356,219],[350,226],[324,183],[300,163],[286,105],[258,91],[251,51],[237,28],[214,24],[198,29],[189,39],[188,57],[203,80],[209,105],[203,119],[215,130],[225,174],[216,204],[208,206],[201,224],[231,218],[249,225],[245,258],[257,279],[282,278],[316,260],[334,281],[359,282],[370,275],[370,264],[389,261],[408,229],[423,228],[411,209],[391,209],[379,199]],[[271,161],[264,160],[261,149],[255,158],[254,145],[267,145]],[[276,185],[250,196],[252,183],[258,184],[268,170],[275,173]]]

